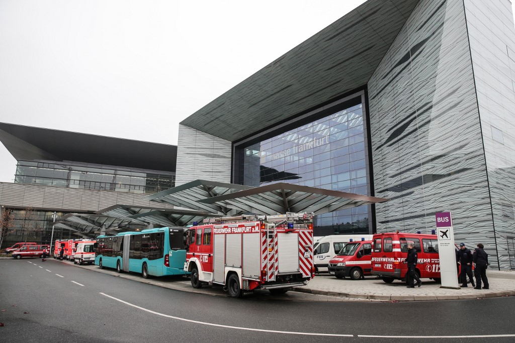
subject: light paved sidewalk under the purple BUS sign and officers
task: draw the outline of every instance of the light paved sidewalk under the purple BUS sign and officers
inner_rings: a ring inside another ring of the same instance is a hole
[[[487,270],[490,289],[440,288],[440,284],[430,279],[422,279],[422,286],[406,288],[406,283],[394,281],[385,283],[381,279],[365,277],[353,281],[350,278],[336,279],[334,276],[317,275],[305,287],[294,290],[326,296],[374,299],[374,300],[450,300],[515,296],[515,271]]]

